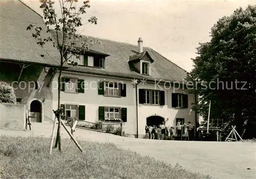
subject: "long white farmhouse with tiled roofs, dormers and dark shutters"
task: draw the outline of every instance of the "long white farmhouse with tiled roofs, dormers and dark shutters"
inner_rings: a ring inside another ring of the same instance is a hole
[[[46,28],[28,6],[1,2],[0,10],[0,80],[15,87],[17,100],[27,105],[33,122],[51,122],[58,101],[59,52],[51,43],[45,50],[39,47],[26,30],[29,24]],[[57,39],[54,30],[42,35]],[[145,125],[198,122],[191,110],[195,95],[184,91],[183,69],[143,47],[141,37],[137,45],[90,38],[100,43],[77,54],[79,58],[66,56],[60,98],[65,115],[88,122],[122,120],[124,131],[138,138],[145,135]]]

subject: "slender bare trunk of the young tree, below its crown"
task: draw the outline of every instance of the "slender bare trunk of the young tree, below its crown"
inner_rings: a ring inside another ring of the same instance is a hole
[[[60,87],[61,87],[61,68],[59,70],[59,76],[58,76],[58,113],[60,113]],[[55,141],[55,148],[59,146],[59,151],[61,152],[61,141],[60,141],[60,117],[58,116],[58,129],[57,129],[57,135],[56,135],[56,141]]]

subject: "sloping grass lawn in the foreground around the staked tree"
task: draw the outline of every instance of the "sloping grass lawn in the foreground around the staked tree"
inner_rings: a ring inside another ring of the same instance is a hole
[[[0,136],[0,178],[210,178],[172,167],[114,144],[62,140],[49,155],[50,139]]]

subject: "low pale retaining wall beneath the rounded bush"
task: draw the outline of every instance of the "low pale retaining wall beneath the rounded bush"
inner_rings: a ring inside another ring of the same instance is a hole
[[[0,103],[0,127],[24,129],[26,105]]]

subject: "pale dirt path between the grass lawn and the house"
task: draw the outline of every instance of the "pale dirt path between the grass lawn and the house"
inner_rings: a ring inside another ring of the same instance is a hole
[[[0,129],[0,135],[50,137],[52,125],[35,123],[32,131]],[[62,137],[70,138],[64,130]],[[74,134],[78,140],[112,142],[120,148],[154,156],[173,166],[179,163],[187,170],[215,178],[256,178],[255,143],[145,140],[79,128]]]

